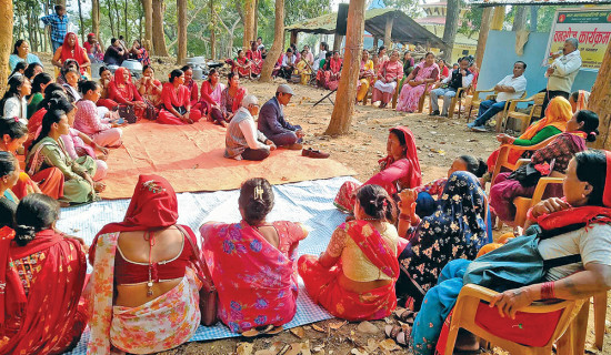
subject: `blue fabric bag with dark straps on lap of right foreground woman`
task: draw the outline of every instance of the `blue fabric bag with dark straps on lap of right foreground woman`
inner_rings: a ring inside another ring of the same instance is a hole
[[[469,264],[462,277],[464,284],[475,284],[504,292],[541,282],[548,270],[581,262],[580,254],[543,260],[539,242],[555,235],[582,229],[584,223],[570,224],[545,231],[534,224],[525,235],[512,239],[499,248]]]

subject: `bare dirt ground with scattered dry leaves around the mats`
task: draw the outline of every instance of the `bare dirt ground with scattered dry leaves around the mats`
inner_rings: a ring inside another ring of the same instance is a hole
[[[50,57],[40,55],[47,68],[50,67]],[[49,65],[49,67],[48,67]],[[156,77],[164,81],[173,64],[153,63]],[[221,79],[226,80],[226,79]],[[259,83],[257,81],[242,81],[249,93],[259,98],[260,104],[272,98],[276,83]],[[284,113],[292,124],[300,124],[306,132],[304,145],[331,153],[334,159],[357,172],[360,181],[368,180],[378,171],[378,160],[385,156],[385,143],[389,129],[395,125],[407,125],[414,133],[418,155],[422,168],[423,181],[428,182],[447,175],[452,161],[461,154],[471,154],[487,159],[498,146],[492,132],[473,133],[465,129],[464,115],[458,120],[429,118],[427,114],[400,113],[391,109],[378,109],[375,106],[358,105],[352,118],[351,132],[342,136],[324,135],[329,124],[333,105],[329,100],[313,106],[313,103],[322,99],[328,91],[304,85],[292,85],[296,95],[289,103]],[[335,100],[350,100],[335,98]],[[424,112],[428,108],[424,106]],[[611,302],[610,302],[611,304]],[[607,318],[611,320],[608,308]],[[407,354],[403,347],[394,342],[384,342],[383,328],[385,324],[395,324],[392,317],[383,321],[371,322],[373,327],[359,323],[347,323],[339,320],[319,322],[313,325],[284,331],[276,336],[260,337],[246,341],[243,338],[229,338],[204,343],[188,343],[178,348],[159,353],[163,355],[179,354],[206,354],[206,355],[298,355],[298,354]],[[371,325],[369,324],[369,325]],[[611,323],[607,322],[607,329]],[[604,337],[605,352],[598,352],[593,346],[593,315],[590,314],[588,329],[587,353],[609,354],[611,352],[611,336]],[[490,354],[507,354],[494,348]]]

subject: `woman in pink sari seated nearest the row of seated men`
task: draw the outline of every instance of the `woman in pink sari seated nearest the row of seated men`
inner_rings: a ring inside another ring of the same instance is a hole
[[[420,62],[407,78],[407,85],[401,89],[399,100],[397,100],[397,111],[415,112],[420,98],[424,94],[427,83],[433,83],[439,80],[439,65],[434,62],[434,54],[428,52],[425,60]],[[428,91],[431,91],[429,87]]]

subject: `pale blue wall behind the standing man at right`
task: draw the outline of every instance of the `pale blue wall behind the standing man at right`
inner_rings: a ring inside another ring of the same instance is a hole
[[[478,79],[478,89],[493,88],[501,79],[511,74],[513,63],[519,60],[528,65],[524,73],[528,81],[527,94],[530,97],[545,89],[547,68],[541,67],[541,62],[547,51],[548,38],[549,33],[530,33],[529,41],[524,45],[524,53],[519,57],[515,54],[515,32],[490,31]],[[572,91],[590,91],[597,80],[597,74],[598,72],[580,70],[573,82]]]

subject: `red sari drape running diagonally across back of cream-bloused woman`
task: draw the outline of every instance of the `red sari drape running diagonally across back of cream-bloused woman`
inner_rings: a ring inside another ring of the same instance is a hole
[[[347,231],[348,235],[363,252],[364,256],[387,276],[397,280],[399,277],[399,261],[397,260],[397,255],[384,242],[375,227],[362,220],[348,223],[350,223],[350,227]],[[345,223],[339,227],[345,230]]]

